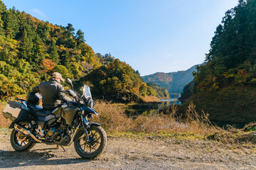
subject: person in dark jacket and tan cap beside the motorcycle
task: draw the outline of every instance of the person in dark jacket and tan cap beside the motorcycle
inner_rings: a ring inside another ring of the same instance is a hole
[[[60,81],[64,81],[61,74],[54,72],[49,81],[42,82],[38,86],[33,87],[33,93],[40,92],[43,96],[43,109],[53,110],[60,105],[61,101],[73,101],[72,98],[65,96],[64,88]]]

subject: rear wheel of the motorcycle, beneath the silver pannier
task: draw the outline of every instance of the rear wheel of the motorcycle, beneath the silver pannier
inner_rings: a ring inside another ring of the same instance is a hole
[[[31,142],[29,137],[26,137],[21,132],[16,131],[15,129],[11,132],[11,147],[13,147],[18,152],[24,152],[31,149],[36,145],[36,142]]]

